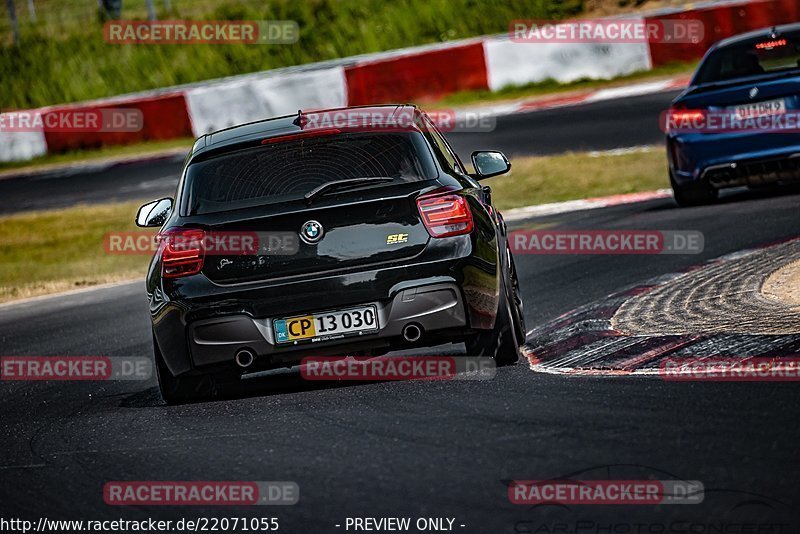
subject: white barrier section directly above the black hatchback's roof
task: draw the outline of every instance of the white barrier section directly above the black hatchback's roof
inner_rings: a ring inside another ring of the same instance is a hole
[[[186,91],[186,105],[196,136],[298,109],[347,105],[344,68],[303,71],[280,76],[248,77]]]

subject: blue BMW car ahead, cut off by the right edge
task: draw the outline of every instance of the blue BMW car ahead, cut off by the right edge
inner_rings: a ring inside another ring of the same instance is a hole
[[[800,180],[800,24],[720,41],[662,122],[675,200]]]

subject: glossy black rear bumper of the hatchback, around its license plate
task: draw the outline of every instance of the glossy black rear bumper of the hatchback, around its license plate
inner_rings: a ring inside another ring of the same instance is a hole
[[[214,284],[203,275],[160,280],[148,288],[154,336],[174,375],[232,365],[243,348],[266,366],[391,348],[402,343],[408,323],[424,331],[418,345],[460,340],[470,331],[492,328],[497,311],[496,240],[476,247],[475,239],[436,240],[413,262],[374,270],[235,286]],[[378,310],[376,333],[296,345],[274,341],[273,319],[365,304]]]

